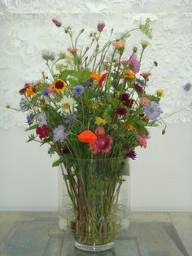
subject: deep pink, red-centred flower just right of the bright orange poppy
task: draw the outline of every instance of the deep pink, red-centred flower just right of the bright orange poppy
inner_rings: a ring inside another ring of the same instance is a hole
[[[111,149],[112,136],[99,135],[94,143],[90,143],[90,149],[96,155],[98,152],[109,152]]]

